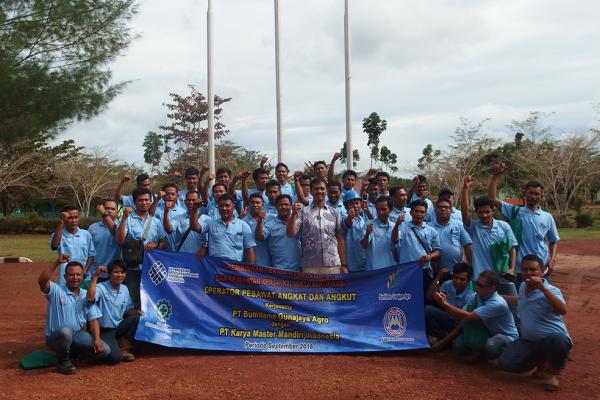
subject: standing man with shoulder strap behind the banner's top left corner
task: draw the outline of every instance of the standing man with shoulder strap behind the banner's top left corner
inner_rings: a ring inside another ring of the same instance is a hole
[[[117,243],[122,246],[127,241],[143,240],[145,251],[166,247],[166,234],[163,224],[149,212],[150,191],[145,188],[136,188],[132,196],[135,200],[135,210],[129,207],[123,210],[123,217],[119,222],[115,235]],[[147,232],[146,237],[144,237],[145,232]],[[128,265],[127,268],[125,285],[129,289],[135,308],[141,309],[140,281],[142,278],[142,264]]]

